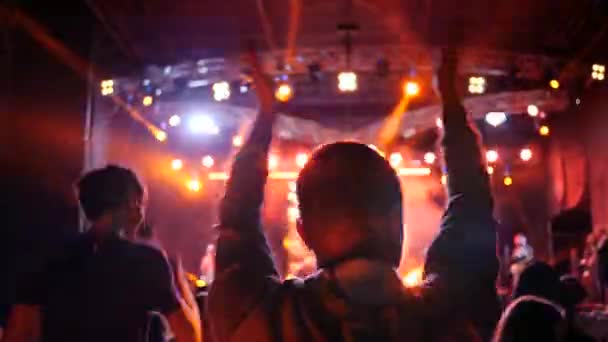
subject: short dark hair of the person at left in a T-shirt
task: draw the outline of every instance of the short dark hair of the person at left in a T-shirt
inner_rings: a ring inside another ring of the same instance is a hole
[[[138,196],[144,194],[135,172],[116,165],[86,173],[76,182],[75,188],[80,206],[89,220],[96,220],[126,204],[133,191]]]

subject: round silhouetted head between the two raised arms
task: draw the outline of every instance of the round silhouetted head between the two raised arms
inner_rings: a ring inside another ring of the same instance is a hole
[[[298,177],[297,195],[298,231],[321,266],[356,256],[399,265],[401,185],[376,151],[354,142],[320,148]]]

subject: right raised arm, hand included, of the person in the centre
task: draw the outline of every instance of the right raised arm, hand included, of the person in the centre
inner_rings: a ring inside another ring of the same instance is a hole
[[[427,254],[425,274],[436,279],[440,306],[474,321],[485,338],[491,336],[500,311],[493,200],[480,136],[455,89],[456,59],[453,54],[444,54],[442,59],[438,79],[449,200],[439,236]]]

